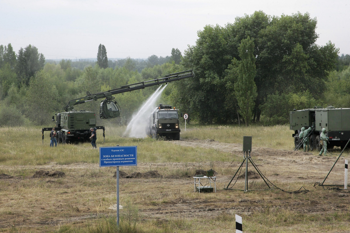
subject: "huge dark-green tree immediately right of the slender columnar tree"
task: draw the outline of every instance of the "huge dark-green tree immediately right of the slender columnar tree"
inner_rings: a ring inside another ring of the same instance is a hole
[[[259,105],[270,93],[309,90],[321,98],[327,80],[327,71],[335,66],[338,49],[334,44],[315,44],[317,20],[308,13],[274,16],[259,32],[257,76],[258,98],[255,105],[257,120]]]

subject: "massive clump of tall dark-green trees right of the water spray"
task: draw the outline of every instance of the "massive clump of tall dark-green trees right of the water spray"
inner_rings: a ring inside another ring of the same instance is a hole
[[[316,24],[308,13],[278,17],[257,11],[225,27],[205,26],[183,57],[182,64],[194,69],[196,78],[178,83],[174,99],[204,124],[239,122],[243,110],[249,113],[246,122],[285,124],[294,108],[349,107],[348,97],[339,104],[328,95],[339,49],[330,41],[315,44]],[[253,48],[241,51],[247,40]],[[240,68],[247,56],[255,58],[255,68]],[[237,88],[239,83],[247,89]],[[244,95],[247,101],[240,104]]]

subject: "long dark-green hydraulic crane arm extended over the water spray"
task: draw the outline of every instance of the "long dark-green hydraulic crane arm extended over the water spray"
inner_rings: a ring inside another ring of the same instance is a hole
[[[191,78],[194,76],[195,76],[194,72],[192,70],[188,70],[188,71],[182,71],[174,74],[168,74],[164,78],[138,82],[138,83],[126,85],[117,89],[112,89],[112,90],[108,90],[106,92],[101,92],[97,94],[90,94],[89,92],[86,92],[87,95],[85,97],[69,101],[66,107],[64,108],[64,110],[72,111],[74,109],[73,106],[76,104],[82,104],[91,100],[96,101],[97,99],[102,99],[102,98],[105,98],[106,100],[113,100],[114,97],[112,95],[115,95],[115,94],[119,94],[123,92],[131,92],[133,90],[144,89],[145,87],[160,85],[162,83],[173,82],[181,79]]]

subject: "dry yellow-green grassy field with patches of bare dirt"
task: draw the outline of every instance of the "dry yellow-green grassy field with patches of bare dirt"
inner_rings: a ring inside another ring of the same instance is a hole
[[[89,143],[50,148],[47,135],[42,141],[41,128],[0,130],[0,232],[235,232],[235,214],[242,216],[244,232],[349,232],[349,194],[313,188],[317,177],[294,154],[290,163],[294,163],[293,169],[301,167],[293,170],[300,174],[276,170],[280,161],[275,162],[273,156],[270,160],[257,156],[257,164],[283,189],[306,187],[309,192],[224,190],[241,154],[125,138],[121,136],[124,128],[107,127],[105,142],[98,137],[98,147],[137,146],[138,166],[121,167],[122,172],[159,173],[153,178],[120,179],[123,209],[118,228],[116,211],[110,209],[116,204],[116,168],[100,168],[98,150],[91,150]],[[181,140],[214,139],[236,145],[242,143],[243,136],[252,136],[254,147],[288,152],[294,149],[291,134],[288,126],[187,125]],[[322,158],[327,166],[335,161],[335,153]],[[316,155],[313,152],[305,158],[315,160]],[[283,159],[283,166],[288,166],[289,158]],[[318,164],[312,169],[322,165]],[[217,192],[194,192],[192,176],[198,169],[209,168],[220,177]],[[65,175],[33,177],[38,170]],[[265,187],[261,179],[251,180],[251,185]]]

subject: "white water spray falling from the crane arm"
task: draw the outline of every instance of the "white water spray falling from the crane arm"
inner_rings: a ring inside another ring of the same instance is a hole
[[[146,124],[148,117],[151,115],[152,110],[158,105],[160,95],[162,94],[164,87],[158,87],[155,92],[142,103],[141,108],[136,114],[133,114],[131,121],[129,122],[123,135],[126,137],[134,138],[145,138],[146,135]]]

